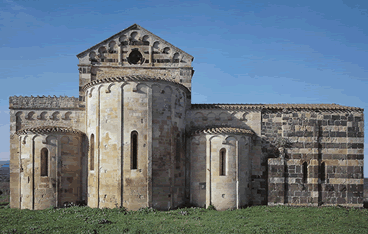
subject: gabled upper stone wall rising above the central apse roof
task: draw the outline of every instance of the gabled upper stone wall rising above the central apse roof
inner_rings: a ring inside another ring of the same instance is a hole
[[[84,85],[107,77],[165,77],[191,88],[193,56],[136,24],[83,51],[77,57],[80,73],[79,100],[82,102],[85,101],[82,90]]]

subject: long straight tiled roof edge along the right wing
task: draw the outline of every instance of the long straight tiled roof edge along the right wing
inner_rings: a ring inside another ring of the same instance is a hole
[[[341,106],[338,104],[192,104],[192,109],[308,109],[308,110],[358,110],[363,108]]]

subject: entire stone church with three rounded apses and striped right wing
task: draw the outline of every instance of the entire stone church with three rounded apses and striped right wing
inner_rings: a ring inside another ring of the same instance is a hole
[[[9,98],[11,207],[363,206],[362,108],[192,104],[193,56],[137,24],[77,57],[79,98]]]

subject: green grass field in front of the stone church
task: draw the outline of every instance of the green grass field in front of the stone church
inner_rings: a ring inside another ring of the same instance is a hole
[[[368,233],[368,210],[254,206],[228,211],[89,207],[31,211],[0,204],[0,233]]]

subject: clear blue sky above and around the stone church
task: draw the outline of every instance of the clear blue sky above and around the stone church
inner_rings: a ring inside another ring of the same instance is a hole
[[[192,103],[367,109],[367,9],[366,0],[2,1],[0,161],[9,96],[78,96],[76,55],[134,23],[194,56]]]

